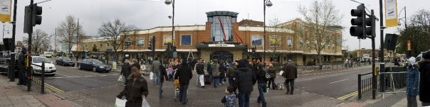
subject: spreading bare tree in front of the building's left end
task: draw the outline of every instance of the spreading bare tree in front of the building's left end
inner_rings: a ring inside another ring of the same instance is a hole
[[[98,28],[98,34],[100,37],[108,40],[108,43],[113,47],[115,57],[118,57],[117,50],[119,50],[120,46],[124,44],[127,38],[137,34],[137,28],[133,25],[126,25],[125,22],[116,18],[112,22],[108,21],[103,23],[102,26]],[[124,50],[124,47],[122,47],[122,50]],[[116,58],[115,61],[117,62],[118,58]]]

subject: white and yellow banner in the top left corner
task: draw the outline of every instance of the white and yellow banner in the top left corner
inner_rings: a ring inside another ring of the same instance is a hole
[[[0,0],[0,21],[11,22],[12,0]]]

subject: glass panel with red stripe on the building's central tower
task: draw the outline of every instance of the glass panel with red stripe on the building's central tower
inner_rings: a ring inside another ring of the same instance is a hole
[[[208,19],[211,25],[211,41],[233,41],[233,27],[231,16],[214,16]]]

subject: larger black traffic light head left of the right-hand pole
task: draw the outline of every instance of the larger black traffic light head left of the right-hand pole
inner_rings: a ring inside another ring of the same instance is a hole
[[[357,36],[358,39],[365,39],[366,34],[366,11],[365,4],[360,4],[357,9],[351,10],[351,16],[357,16],[357,18],[351,19],[350,34],[352,36]]]

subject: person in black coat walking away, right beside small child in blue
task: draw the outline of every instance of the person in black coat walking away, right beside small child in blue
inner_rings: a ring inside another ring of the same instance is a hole
[[[240,60],[237,67],[234,72],[234,87],[239,91],[239,107],[249,107],[249,97],[257,81],[256,75],[248,67],[247,60]]]

